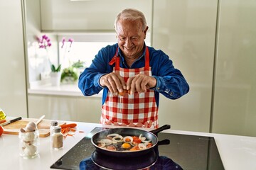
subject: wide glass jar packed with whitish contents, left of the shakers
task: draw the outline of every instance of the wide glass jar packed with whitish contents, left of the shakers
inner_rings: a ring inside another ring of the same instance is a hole
[[[35,123],[28,123],[25,129],[18,132],[19,153],[23,158],[34,158],[38,156],[39,131]]]

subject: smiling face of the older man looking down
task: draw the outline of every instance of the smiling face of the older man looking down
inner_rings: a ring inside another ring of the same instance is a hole
[[[125,60],[134,62],[134,60],[137,60],[142,55],[148,27],[143,30],[140,20],[131,21],[120,19],[117,22],[116,30],[118,45],[122,50]]]

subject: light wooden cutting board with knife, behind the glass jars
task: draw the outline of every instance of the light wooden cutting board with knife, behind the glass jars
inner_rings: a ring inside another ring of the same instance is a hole
[[[35,118],[22,118],[21,120],[18,120],[14,123],[10,123],[9,125],[5,125],[4,128],[4,133],[5,134],[10,134],[10,135],[18,135],[18,132],[20,131],[21,128],[25,128],[26,125],[29,122],[34,122],[36,123],[38,119]],[[9,120],[7,120],[9,121]],[[41,123],[38,124],[38,130],[39,130],[39,137],[48,137],[50,135],[50,122],[52,120],[46,120],[43,119]],[[58,121],[58,125],[64,125],[65,122]]]

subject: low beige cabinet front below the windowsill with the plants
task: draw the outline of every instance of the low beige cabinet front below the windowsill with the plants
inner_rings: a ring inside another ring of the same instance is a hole
[[[99,123],[101,98],[28,94],[30,118]]]

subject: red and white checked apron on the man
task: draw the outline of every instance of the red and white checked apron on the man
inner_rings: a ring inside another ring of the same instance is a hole
[[[113,60],[116,62],[113,72],[119,72],[119,75],[124,77],[125,82],[127,82],[129,77],[134,77],[140,73],[151,76],[148,47],[146,47],[145,67],[138,69],[120,68],[120,59],[117,56],[117,52]],[[124,96],[113,96],[109,91],[106,101],[102,106],[100,123],[106,125],[158,128],[158,108],[156,106],[154,91],[147,89],[145,93],[139,94],[135,92],[132,95],[124,94]]]

